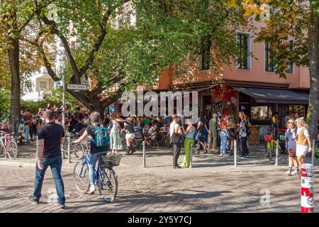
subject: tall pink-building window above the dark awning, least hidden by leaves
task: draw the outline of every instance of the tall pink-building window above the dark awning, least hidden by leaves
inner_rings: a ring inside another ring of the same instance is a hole
[[[239,48],[237,68],[250,70],[250,35],[238,33],[237,42]]]

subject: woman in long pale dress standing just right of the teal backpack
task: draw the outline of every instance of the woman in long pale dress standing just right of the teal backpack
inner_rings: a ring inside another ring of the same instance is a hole
[[[118,115],[114,114],[112,117],[112,128],[110,133],[110,148],[112,150],[112,153],[118,154],[118,150],[123,150],[119,122],[124,121],[125,120],[120,118]]]

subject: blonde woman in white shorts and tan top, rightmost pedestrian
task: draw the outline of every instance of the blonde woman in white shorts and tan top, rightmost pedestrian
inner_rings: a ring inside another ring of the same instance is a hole
[[[308,126],[303,118],[298,118],[297,120],[297,135],[296,135],[296,155],[298,157],[299,170],[301,170],[301,165],[303,165],[303,158],[306,153],[311,152],[311,141],[309,137]]]

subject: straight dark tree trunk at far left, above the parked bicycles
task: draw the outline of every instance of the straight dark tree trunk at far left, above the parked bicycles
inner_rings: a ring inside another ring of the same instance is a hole
[[[11,104],[9,127],[10,131],[17,133],[20,123],[20,65],[19,65],[20,46],[18,39],[11,39],[11,48],[8,50],[9,67],[11,72]]]

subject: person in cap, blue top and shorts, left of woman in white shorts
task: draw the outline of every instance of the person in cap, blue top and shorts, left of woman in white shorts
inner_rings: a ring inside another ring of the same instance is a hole
[[[298,160],[296,155],[296,135],[297,135],[297,128],[296,123],[293,119],[289,119],[287,121],[287,130],[285,133],[286,136],[286,148],[289,154],[289,170],[286,172],[286,175],[292,176],[298,174]],[[295,170],[292,171],[293,166]]]

